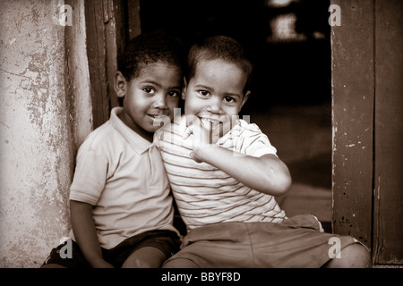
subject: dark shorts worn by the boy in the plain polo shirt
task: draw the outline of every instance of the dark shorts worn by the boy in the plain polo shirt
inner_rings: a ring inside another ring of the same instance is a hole
[[[67,268],[90,268],[78,243],[73,240],[70,242],[72,243],[71,257],[66,257],[64,249],[68,242],[64,242],[51,250],[43,265],[56,264]],[[101,249],[104,259],[116,268],[120,268],[127,257],[130,257],[134,251],[140,248],[158,248],[169,258],[176,254],[179,246],[180,240],[176,232],[156,230],[134,235],[119,243],[115,248]]]

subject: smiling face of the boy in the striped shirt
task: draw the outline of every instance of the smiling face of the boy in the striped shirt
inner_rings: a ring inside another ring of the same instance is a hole
[[[201,61],[182,92],[186,118],[198,117],[204,128],[226,134],[249,97],[244,94],[246,74],[234,63]],[[189,116],[193,115],[193,116]]]

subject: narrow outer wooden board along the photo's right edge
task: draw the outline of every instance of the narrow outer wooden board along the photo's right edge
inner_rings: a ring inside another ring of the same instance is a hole
[[[403,264],[403,2],[375,1],[373,261]]]

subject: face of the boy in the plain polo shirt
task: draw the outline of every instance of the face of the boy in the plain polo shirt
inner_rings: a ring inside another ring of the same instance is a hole
[[[182,72],[171,64],[149,63],[141,67],[137,77],[123,81],[121,87],[124,90],[116,92],[124,97],[124,112],[120,118],[132,130],[151,141],[152,133],[159,130],[159,125],[154,125],[155,119],[165,115],[172,121],[174,117],[183,85]]]

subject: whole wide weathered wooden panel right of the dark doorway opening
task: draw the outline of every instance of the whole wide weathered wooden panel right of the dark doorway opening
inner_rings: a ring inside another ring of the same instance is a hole
[[[331,1],[333,230],[403,264],[403,3]]]

